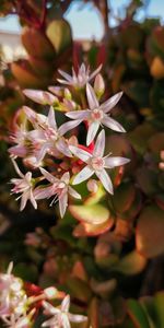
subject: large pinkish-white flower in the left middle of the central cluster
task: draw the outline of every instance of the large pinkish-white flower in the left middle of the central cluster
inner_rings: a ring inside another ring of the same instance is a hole
[[[46,153],[56,156],[58,152],[66,156],[71,156],[71,152],[63,134],[77,127],[79,120],[66,122],[58,128],[52,107],[50,107],[48,116],[37,114],[26,106],[24,106],[24,112],[35,128],[31,131],[31,141],[34,144],[37,163],[44,159]]]

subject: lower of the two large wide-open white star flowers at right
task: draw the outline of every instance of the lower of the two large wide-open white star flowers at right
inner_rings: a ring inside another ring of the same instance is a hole
[[[92,154],[73,145],[70,145],[70,150],[77,157],[87,164],[81,172],[78,173],[73,179],[73,185],[78,185],[95,174],[102,181],[104,188],[109,194],[113,194],[113,184],[105,168],[124,165],[128,163],[129,160],[125,157],[114,157],[110,155],[103,157],[105,150],[105,131],[102,130],[99,132]]]

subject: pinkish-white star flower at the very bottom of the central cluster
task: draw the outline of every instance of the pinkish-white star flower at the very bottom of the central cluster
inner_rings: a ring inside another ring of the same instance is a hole
[[[42,174],[44,177],[50,183],[50,186],[44,188],[36,188],[35,189],[35,198],[36,199],[44,199],[50,198],[55,196],[51,201],[51,204],[59,200],[59,210],[61,218],[66,213],[66,209],[68,207],[68,194],[77,199],[81,199],[81,196],[71,187],[69,186],[70,183],[70,174],[66,172],[60,179],[56,178],[54,175],[48,173],[46,169],[40,168]]]

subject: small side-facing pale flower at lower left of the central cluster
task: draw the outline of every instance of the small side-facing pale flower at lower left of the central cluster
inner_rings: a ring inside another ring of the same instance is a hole
[[[32,178],[32,172],[27,172],[25,175],[20,171],[16,162],[12,160],[12,163],[14,165],[14,168],[17,173],[17,175],[21,178],[12,178],[11,183],[14,184],[14,187],[11,189],[13,194],[21,194],[17,198],[21,198],[21,207],[20,211],[23,211],[23,209],[26,206],[27,200],[30,200],[34,207],[34,209],[37,209],[37,203],[33,195],[33,178]]]

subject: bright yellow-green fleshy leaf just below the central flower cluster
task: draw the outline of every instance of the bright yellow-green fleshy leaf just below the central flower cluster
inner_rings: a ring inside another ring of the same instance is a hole
[[[70,206],[69,210],[77,220],[90,224],[103,224],[110,216],[108,209],[102,204]]]

